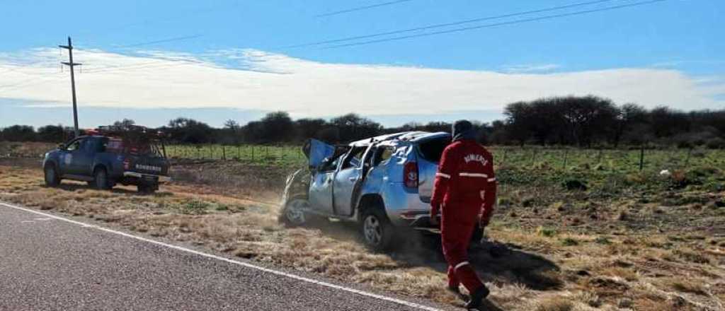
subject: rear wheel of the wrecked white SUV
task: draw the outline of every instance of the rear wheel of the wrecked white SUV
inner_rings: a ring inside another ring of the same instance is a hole
[[[373,250],[380,252],[392,246],[395,229],[379,208],[368,208],[363,212],[360,231],[365,245]]]

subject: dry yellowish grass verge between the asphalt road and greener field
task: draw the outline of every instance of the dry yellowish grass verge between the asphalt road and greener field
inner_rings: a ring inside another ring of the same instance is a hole
[[[167,185],[154,195],[138,195],[130,187],[98,191],[72,182],[46,188],[38,169],[0,166],[0,200],[85,216],[104,226],[203,245],[260,263],[463,305],[442,290],[446,265],[425,239],[397,252],[371,253],[358,242],[357,232],[342,223],[304,229],[281,226],[278,207],[265,203],[277,200],[268,192],[261,198],[250,197],[259,191],[247,187],[235,192],[233,187],[192,182]],[[504,192],[514,202],[522,201],[517,196],[525,193]],[[533,205],[516,210],[515,217],[502,208],[500,219],[487,231],[491,239],[507,242],[510,254],[494,257],[485,248],[471,253],[471,262],[492,288],[491,300],[503,310],[722,310],[725,240],[692,229],[667,235],[656,227],[632,231],[621,225],[617,216],[621,210],[627,210],[627,221],[641,213],[659,214],[646,205],[633,213],[637,208],[631,202],[613,204],[611,211],[598,207],[599,219],[607,221],[601,226],[581,220],[561,226],[557,223],[562,221],[553,218],[571,218],[566,213],[582,207],[544,205],[534,216],[535,203],[529,204]]]

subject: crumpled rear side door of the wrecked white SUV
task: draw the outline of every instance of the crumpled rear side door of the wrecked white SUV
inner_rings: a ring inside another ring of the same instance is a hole
[[[342,161],[339,171],[335,174],[332,189],[336,215],[352,215],[352,195],[357,188],[357,184],[362,182],[367,150],[368,146],[352,148]]]

